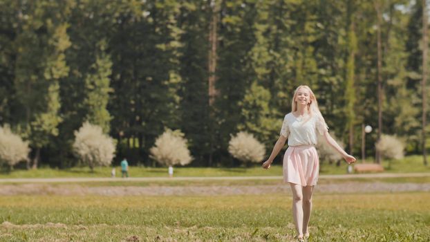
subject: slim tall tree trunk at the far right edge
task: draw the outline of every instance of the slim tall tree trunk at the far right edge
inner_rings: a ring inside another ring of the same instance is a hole
[[[427,150],[426,150],[426,126],[427,126],[427,4],[426,0],[422,0],[422,158],[424,165],[427,166]]]

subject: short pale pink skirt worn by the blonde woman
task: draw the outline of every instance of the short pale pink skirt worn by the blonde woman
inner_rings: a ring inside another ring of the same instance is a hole
[[[283,180],[303,187],[317,185],[319,158],[313,145],[288,147],[283,156]]]

